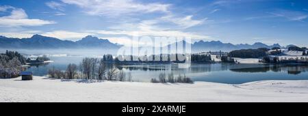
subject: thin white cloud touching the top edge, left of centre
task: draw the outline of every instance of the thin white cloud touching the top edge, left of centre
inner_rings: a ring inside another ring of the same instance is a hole
[[[168,12],[170,6],[162,3],[138,3],[133,0],[62,0],[62,2],[77,5],[90,15],[111,17]]]

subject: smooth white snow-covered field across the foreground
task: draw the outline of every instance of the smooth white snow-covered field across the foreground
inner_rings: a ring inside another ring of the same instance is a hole
[[[0,102],[308,102],[308,81],[242,85],[0,79]]]

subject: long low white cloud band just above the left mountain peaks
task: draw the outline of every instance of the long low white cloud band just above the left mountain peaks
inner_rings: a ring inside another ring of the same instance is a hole
[[[16,33],[18,34],[18,33]],[[168,31],[168,30],[156,30],[153,29],[150,25],[141,25],[138,26],[137,30],[80,30],[80,31],[65,31],[65,30],[55,30],[40,33],[49,37],[60,38],[62,40],[80,40],[86,35],[94,35],[102,39],[110,40],[111,42],[118,44],[130,44],[132,37],[138,36],[150,36],[150,37],[184,37],[192,38],[198,40],[207,40],[211,39],[208,35],[201,35],[198,33],[190,33],[183,31]],[[135,42],[136,44],[136,42]]]

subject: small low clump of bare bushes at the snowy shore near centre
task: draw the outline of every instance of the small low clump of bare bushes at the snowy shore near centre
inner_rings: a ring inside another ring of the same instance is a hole
[[[151,83],[194,83],[192,79],[188,78],[185,74],[175,77],[173,73],[168,74],[160,73],[158,79],[151,78]]]

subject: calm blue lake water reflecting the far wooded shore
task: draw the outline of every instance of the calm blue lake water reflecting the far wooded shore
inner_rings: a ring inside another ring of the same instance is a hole
[[[66,70],[68,63],[79,64],[83,57],[49,57],[53,63],[31,66],[28,70],[36,76],[45,76],[49,68]],[[203,63],[190,68],[177,68],[175,64],[117,66],[119,70],[131,72],[133,81],[149,82],[160,73],[185,74],[193,81],[240,84],[264,80],[308,80],[308,65],[270,65]]]

